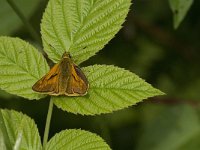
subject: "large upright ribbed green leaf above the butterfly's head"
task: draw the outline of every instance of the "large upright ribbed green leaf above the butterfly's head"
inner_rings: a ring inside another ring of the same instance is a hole
[[[54,62],[70,51],[79,64],[95,55],[122,27],[131,0],[50,0],[43,15],[44,50]]]

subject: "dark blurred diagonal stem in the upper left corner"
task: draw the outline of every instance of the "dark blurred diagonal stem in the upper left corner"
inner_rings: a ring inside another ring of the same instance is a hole
[[[35,29],[32,27],[32,25],[28,22],[26,17],[23,15],[23,13],[17,7],[17,5],[13,2],[13,0],[7,0],[7,2],[12,7],[12,9],[15,11],[15,13],[18,15],[18,17],[21,19],[21,21],[24,23],[25,27],[28,29],[31,36],[41,45],[42,42],[41,42],[40,36],[35,31]]]

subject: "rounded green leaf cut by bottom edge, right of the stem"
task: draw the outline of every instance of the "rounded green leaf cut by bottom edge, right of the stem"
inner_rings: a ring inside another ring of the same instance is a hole
[[[48,143],[46,150],[110,150],[104,140],[84,130],[65,130],[57,133]]]

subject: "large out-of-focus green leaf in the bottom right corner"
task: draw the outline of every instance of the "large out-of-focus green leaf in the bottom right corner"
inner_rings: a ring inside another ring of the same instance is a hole
[[[146,115],[151,116],[151,108],[146,109]],[[137,150],[183,150],[192,146],[191,140],[200,135],[200,120],[193,107],[170,105],[154,113],[153,119],[144,122],[141,131]]]

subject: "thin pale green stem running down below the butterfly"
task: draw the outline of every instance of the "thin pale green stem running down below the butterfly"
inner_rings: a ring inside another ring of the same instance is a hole
[[[47,144],[47,141],[48,141],[52,111],[53,111],[53,100],[50,99],[49,109],[48,109],[47,119],[46,119],[46,125],[45,125],[45,130],[44,130],[44,137],[43,137],[43,150],[46,148],[46,144]]]

